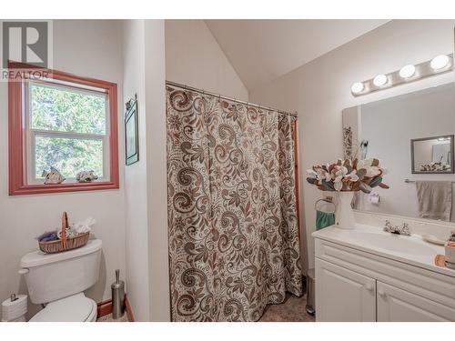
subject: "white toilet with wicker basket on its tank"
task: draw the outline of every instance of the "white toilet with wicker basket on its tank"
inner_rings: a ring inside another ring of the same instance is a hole
[[[84,290],[96,284],[101,240],[59,254],[31,252],[21,258],[30,300],[45,305],[30,322],[95,322],[96,302]]]

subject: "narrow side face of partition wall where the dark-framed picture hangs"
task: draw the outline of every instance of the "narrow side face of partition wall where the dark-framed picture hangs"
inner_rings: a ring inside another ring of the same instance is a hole
[[[137,321],[149,318],[148,220],[147,220],[147,130],[144,20],[123,22],[123,101],[137,94],[139,161],[125,168],[126,292]],[[124,161],[123,161],[124,162]]]

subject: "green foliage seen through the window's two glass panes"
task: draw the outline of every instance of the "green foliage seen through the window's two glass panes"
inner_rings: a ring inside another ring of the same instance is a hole
[[[59,132],[106,134],[106,96],[64,87],[30,84],[30,127]],[[52,165],[66,178],[82,170],[103,176],[103,142],[79,136],[35,136],[35,176]]]

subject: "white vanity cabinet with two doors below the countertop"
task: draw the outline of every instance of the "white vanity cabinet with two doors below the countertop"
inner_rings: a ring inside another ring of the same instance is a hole
[[[455,274],[316,238],[316,320],[455,321]]]

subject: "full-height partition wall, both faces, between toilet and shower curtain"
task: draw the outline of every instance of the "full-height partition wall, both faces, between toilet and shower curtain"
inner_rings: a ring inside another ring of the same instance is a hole
[[[165,31],[123,23],[124,99],[137,94],[139,161],[126,166],[126,291],[136,321],[169,321]]]

